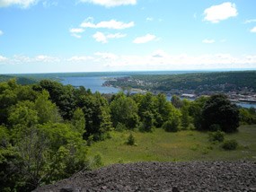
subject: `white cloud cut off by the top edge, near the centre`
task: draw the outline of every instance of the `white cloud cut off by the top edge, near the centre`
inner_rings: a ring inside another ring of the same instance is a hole
[[[80,0],[80,2],[99,4],[106,7],[137,4],[137,0]]]

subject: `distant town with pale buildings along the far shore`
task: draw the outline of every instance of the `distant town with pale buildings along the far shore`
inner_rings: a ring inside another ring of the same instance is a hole
[[[197,89],[170,89],[170,90],[158,90],[154,89],[159,86],[160,83],[153,83],[148,81],[139,80],[130,76],[124,77],[112,77],[108,78],[102,86],[113,86],[123,89],[131,88],[133,92],[153,92],[158,94],[160,92],[165,93],[167,96],[177,95],[181,98],[187,98],[195,100],[200,96],[210,96],[216,93],[223,93],[233,102],[249,102],[256,103],[256,92],[252,88],[237,87],[233,83],[218,83],[218,84],[203,84],[199,85]]]

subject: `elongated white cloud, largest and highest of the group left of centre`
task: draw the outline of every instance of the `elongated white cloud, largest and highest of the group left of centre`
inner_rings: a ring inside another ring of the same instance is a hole
[[[117,22],[116,20],[110,20],[108,22],[99,22],[97,24],[93,23],[93,18],[89,17],[84,22],[81,23],[80,27],[83,28],[105,28],[105,29],[113,29],[113,30],[123,30],[127,28],[134,27],[134,22]]]

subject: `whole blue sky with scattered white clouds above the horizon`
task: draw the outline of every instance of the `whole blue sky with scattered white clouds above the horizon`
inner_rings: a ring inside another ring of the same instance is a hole
[[[0,0],[0,74],[256,69],[255,0]]]

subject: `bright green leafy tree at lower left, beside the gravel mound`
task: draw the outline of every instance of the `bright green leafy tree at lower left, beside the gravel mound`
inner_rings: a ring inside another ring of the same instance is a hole
[[[48,123],[15,127],[13,135],[27,190],[70,177],[87,164],[85,141],[69,125]]]

